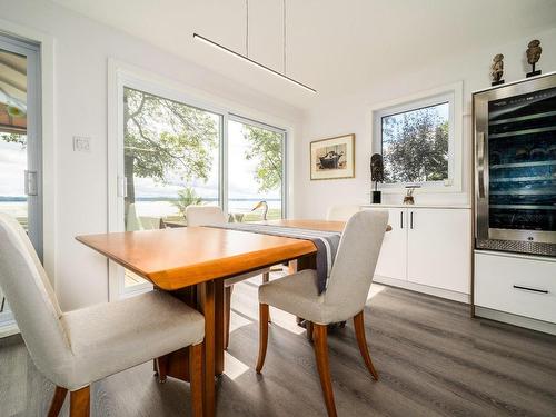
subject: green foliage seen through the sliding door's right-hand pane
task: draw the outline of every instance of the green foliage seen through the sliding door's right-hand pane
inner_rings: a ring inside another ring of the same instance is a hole
[[[282,135],[245,126],[244,137],[251,146],[245,153],[246,159],[257,161],[255,180],[259,185],[259,192],[278,189],[282,176]]]

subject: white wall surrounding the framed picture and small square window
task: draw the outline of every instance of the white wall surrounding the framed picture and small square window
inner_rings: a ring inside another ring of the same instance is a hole
[[[327,207],[334,203],[368,203],[370,201],[369,161],[371,149],[371,108],[391,100],[404,98],[456,81],[464,81],[464,183],[458,193],[424,193],[416,191],[419,203],[470,203],[470,145],[471,145],[471,92],[490,86],[489,66],[493,57],[502,52],[505,56],[506,82],[525,78],[530,67],[525,67],[525,50],[530,39],[542,41],[543,56],[537,68],[543,72],[556,70],[556,29],[532,33],[528,38],[508,40],[494,49],[468,53],[455,53],[435,62],[429,62],[418,71],[403,68],[395,70],[391,77],[380,80],[378,87],[361,86],[361,92],[322,103],[307,113],[304,120],[301,140],[296,142],[296,215],[306,218],[322,218]],[[430,46],[424,46],[429,48]],[[440,51],[439,51],[440,52]],[[364,51],[361,53],[365,53]],[[403,53],[403,51],[399,51]],[[385,57],[384,64],[388,66]],[[373,73],[369,73],[369,78]],[[377,86],[376,80],[373,85]],[[370,85],[370,82],[369,82]],[[356,176],[354,179],[310,181],[309,142],[345,133],[356,135]],[[376,150],[379,151],[379,150]],[[384,202],[401,202],[401,195],[383,193]]]

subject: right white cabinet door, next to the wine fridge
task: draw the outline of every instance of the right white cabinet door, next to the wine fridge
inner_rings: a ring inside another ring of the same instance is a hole
[[[416,284],[469,294],[470,210],[407,210],[407,279]]]

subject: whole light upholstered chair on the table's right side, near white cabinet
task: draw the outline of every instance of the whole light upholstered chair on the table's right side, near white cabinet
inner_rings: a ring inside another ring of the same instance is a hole
[[[327,289],[318,294],[312,269],[276,279],[259,287],[259,358],[257,371],[265,364],[268,340],[268,307],[272,306],[311,322],[317,368],[329,416],[336,416],[328,366],[328,325],[354,319],[357,342],[367,369],[378,374],[370,360],[365,338],[364,308],[367,301],[388,220],[387,211],[359,211],[347,222],[340,239]]]

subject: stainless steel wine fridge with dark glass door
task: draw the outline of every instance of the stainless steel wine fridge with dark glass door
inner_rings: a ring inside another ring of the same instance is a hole
[[[475,248],[556,256],[556,73],[473,95]]]

